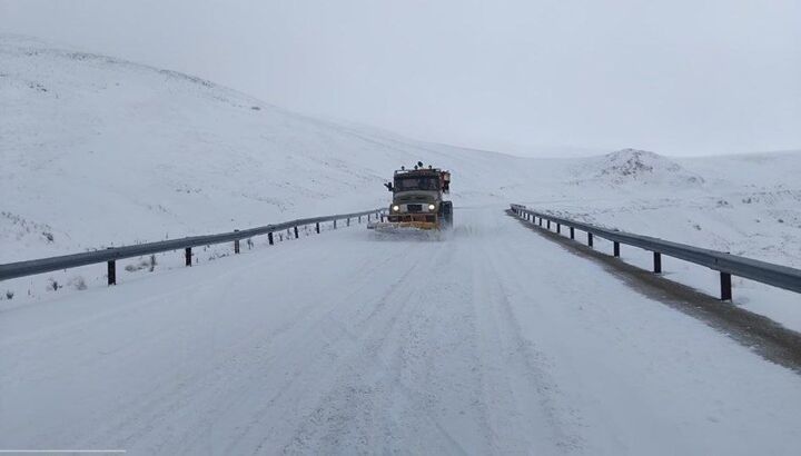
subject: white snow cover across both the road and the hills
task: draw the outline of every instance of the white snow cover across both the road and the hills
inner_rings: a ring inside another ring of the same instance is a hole
[[[103,265],[0,284],[0,449],[801,447],[797,375],[503,215],[520,202],[798,268],[799,151],[517,158],[9,36],[0,109],[0,262],[379,207],[417,160],[453,171],[457,208],[441,241],[324,227],[236,258],[197,249],[194,268],[120,261],[113,288]],[[714,271],[663,261],[718,294]],[[801,329],[797,294],[735,279],[734,305]]]

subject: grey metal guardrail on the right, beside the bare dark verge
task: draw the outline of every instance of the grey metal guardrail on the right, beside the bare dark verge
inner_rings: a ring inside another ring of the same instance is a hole
[[[615,257],[620,257],[621,244],[652,251],[654,274],[662,272],[662,255],[683,259],[720,271],[721,300],[731,300],[732,298],[731,276],[743,277],[787,290],[801,293],[801,269],[740,257],[724,251],[671,242],[649,236],[632,235],[630,232],[601,228],[581,221],[537,212],[522,205],[511,205],[511,209],[517,217],[541,227],[543,220],[545,220],[546,229],[548,230],[551,230],[551,224],[555,224],[556,232],[558,234],[562,232],[563,226],[567,227],[570,228],[571,239],[575,239],[576,229],[584,231],[587,234],[587,245],[590,247],[593,246],[593,236],[611,240],[613,242],[613,255]],[[537,219],[540,220],[537,221]]]

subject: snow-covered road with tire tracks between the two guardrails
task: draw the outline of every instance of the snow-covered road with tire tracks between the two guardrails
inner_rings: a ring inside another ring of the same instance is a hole
[[[801,378],[503,215],[0,314],[0,449],[798,454]]]

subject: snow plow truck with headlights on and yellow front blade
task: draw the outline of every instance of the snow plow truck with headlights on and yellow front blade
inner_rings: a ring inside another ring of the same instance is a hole
[[[392,232],[405,229],[442,230],[453,225],[453,202],[444,196],[451,192],[451,172],[423,166],[395,171],[392,182],[384,186],[392,191],[393,200],[386,221],[368,228]]]

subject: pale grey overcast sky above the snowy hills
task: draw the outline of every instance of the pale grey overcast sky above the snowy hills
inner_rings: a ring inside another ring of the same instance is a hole
[[[0,0],[0,32],[463,146],[801,149],[801,0]]]

